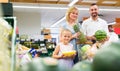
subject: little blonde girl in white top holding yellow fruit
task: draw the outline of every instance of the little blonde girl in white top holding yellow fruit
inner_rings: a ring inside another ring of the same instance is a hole
[[[71,56],[65,56],[62,53],[67,51],[75,51],[73,45],[70,42],[72,33],[68,29],[63,29],[61,32],[61,42],[58,43],[54,52],[53,58],[58,59],[59,66],[62,68],[70,69],[73,66],[73,58],[76,54]]]

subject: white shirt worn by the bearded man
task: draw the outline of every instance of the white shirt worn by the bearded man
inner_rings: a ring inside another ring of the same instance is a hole
[[[82,31],[86,36],[93,36],[97,30],[105,30],[107,35],[109,35],[107,22],[101,18],[96,21],[92,18],[88,18],[82,23]]]

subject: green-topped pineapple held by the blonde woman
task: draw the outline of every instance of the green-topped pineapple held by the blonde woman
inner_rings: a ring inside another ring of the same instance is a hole
[[[79,35],[79,37],[78,37],[79,43],[85,44],[85,42],[87,41],[86,36],[83,34],[83,32],[80,31],[78,25],[77,25],[77,24],[74,25],[73,28],[74,28],[74,31],[75,31],[75,32],[80,32],[80,35]]]

